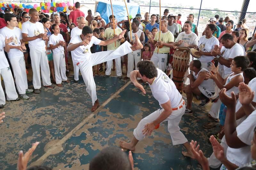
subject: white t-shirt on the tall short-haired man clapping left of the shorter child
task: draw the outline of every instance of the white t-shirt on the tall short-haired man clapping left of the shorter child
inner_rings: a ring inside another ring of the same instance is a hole
[[[28,34],[28,37],[34,37],[44,32],[44,26],[40,22],[32,23],[30,21],[22,24],[22,33]],[[45,48],[45,41],[42,38],[37,38],[33,41],[28,41],[29,49],[42,49]]]

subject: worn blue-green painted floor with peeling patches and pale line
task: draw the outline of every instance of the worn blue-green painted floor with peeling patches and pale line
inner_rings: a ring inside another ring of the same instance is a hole
[[[159,108],[148,85],[142,95],[129,81],[95,76],[97,96],[102,104],[90,112],[91,98],[80,83],[64,83],[62,88],[42,88],[30,99],[7,102],[0,125],[0,169],[15,169],[20,150],[27,151],[39,141],[29,165],[43,164],[53,169],[88,169],[89,162],[107,146],[129,141],[141,118]],[[204,107],[194,105],[193,115],[182,117],[180,128],[188,140],[196,139],[206,156],[212,153]],[[196,160],[185,158],[182,145],[172,146],[167,123],[139,142],[133,159],[135,169],[201,169]],[[128,153],[128,151],[126,151]]]

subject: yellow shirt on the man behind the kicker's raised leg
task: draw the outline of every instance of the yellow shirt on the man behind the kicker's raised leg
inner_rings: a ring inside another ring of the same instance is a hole
[[[115,33],[116,35],[119,35],[120,33],[122,33],[122,29],[121,28],[116,28],[115,29]],[[107,28],[105,30],[105,33],[104,33],[104,37],[107,39],[107,40],[110,40],[112,38],[114,38],[114,29],[112,28]],[[118,48],[120,46],[120,41],[116,41],[116,47],[115,47],[115,42],[111,43],[111,44],[108,44],[107,47],[108,47],[108,50],[115,50],[116,48]]]

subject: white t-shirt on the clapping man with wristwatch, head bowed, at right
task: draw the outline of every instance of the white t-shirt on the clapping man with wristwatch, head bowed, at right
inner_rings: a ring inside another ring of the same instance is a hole
[[[223,47],[222,47],[223,48]],[[221,50],[222,50],[221,48]],[[238,43],[236,43],[232,48],[223,48],[225,50],[223,57],[228,60],[228,58],[235,58],[239,55],[244,55],[243,47],[241,47]],[[222,50],[222,51],[223,51]],[[220,51],[222,53],[222,51]],[[224,74],[230,74],[232,73],[231,68],[223,65],[224,68]]]

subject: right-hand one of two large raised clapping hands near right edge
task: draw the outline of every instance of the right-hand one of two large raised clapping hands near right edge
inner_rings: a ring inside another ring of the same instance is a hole
[[[239,83],[239,101],[242,105],[249,105],[253,98],[254,98],[254,92],[252,92],[252,89],[244,84],[244,82]]]

